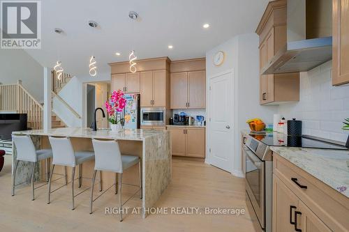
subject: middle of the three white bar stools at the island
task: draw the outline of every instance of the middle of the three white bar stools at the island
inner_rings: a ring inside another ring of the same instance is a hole
[[[55,165],[60,165],[64,167],[72,167],[73,173],[71,178],[71,188],[72,188],[72,210],[75,209],[74,206],[74,197],[81,194],[82,191],[76,195],[74,195],[74,180],[75,180],[75,167],[79,167],[79,187],[81,187],[81,164],[87,162],[89,160],[94,160],[94,152],[92,151],[74,151],[71,141],[68,137],[49,137],[50,144],[52,147],[53,160],[52,160],[52,170],[50,172],[50,179],[48,182],[48,196],[47,196],[47,204],[50,203],[51,193],[59,190],[61,187],[51,192],[51,182],[52,182],[52,174],[54,171]],[[102,188],[102,183],[101,188]],[[88,190],[88,189],[87,189]]]

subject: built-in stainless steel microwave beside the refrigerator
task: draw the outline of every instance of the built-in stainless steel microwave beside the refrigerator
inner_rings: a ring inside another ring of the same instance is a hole
[[[165,125],[165,108],[140,109],[140,125]]]

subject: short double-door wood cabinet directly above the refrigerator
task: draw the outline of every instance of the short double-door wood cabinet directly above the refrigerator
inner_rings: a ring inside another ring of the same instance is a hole
[[[140,72],[112,75],[112,90],[124,93],[140,93]]]

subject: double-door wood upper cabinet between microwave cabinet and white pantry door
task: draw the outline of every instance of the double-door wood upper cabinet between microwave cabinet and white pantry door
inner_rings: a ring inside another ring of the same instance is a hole
[[[205,109],[205,59],[171,63],[171,109]]]

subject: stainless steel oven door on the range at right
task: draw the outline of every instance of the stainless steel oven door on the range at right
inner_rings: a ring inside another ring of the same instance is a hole
[[[253,210],[258,217],[260,226],[265,228],[265,162],[247,146],[244,146],[246,165],[246,192],[251,200]]]

